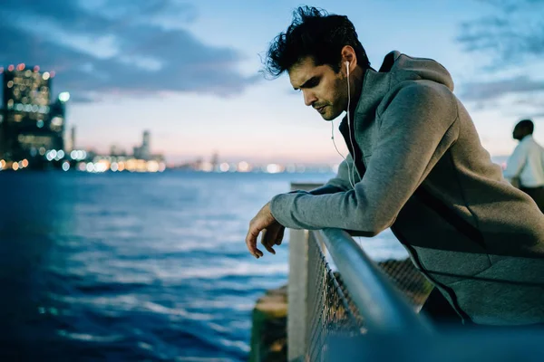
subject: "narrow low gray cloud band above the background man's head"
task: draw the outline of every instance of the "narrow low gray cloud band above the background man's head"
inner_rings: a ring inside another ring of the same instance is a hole
[[[468,82],[462,86],[461,97],[465,100],[495,100],[511,93],[523,93],[532,97],[544,90],[544,81],[533,81],[528,77],[515,77],[499,81]]]

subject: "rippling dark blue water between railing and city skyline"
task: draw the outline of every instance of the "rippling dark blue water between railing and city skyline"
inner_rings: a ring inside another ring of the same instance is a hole
[[[251,257],[248,222],[291,181],[330,176],[0,174],[1,359],[247,360],[288,249]],[[364,243],[402,252],[388,232]]]

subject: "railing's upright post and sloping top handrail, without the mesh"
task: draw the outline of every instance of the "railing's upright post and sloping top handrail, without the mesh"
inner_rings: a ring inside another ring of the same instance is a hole
[[[311,190],[321,184],[291,184],[291,190]],[[289,232],[289,275],[287,312],[287,359],[304,360],[307,329],[306,301],[308,281],[307,230]],[[364,253],[355,240],[343,230],[324,229],[316,232],[342,275],[356,307],[364,313],[369,334],[424,333],[431,324],[417,315],[407,300],[396,291],[378,266]]]

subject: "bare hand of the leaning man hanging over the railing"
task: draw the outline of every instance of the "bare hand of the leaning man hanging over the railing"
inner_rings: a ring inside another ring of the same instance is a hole
[[[248,250],[257,259],[263,256],[263,252],[257,249],[257,237],[261,234],[261,243],[268,252],[273,254],[276,251],[273,245],[280,245],[286,228],[279,224],[270,212],[270,203],[264,205],[257,215],[249,222],[248,235],[246,236],[246,245]]]

